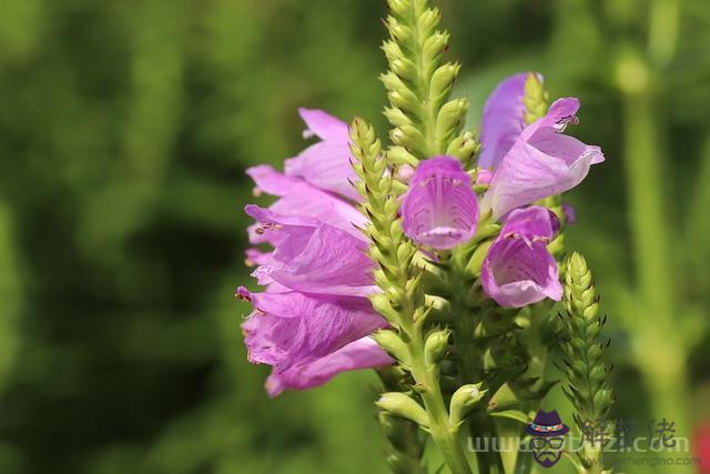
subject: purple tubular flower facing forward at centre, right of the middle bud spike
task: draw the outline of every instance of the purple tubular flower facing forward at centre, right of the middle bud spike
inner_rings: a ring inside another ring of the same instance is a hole
[[[438,250],[474,236],[478,200],[462,163],[452,157],[422,161],[404,196],[402,216],[407,236]]]

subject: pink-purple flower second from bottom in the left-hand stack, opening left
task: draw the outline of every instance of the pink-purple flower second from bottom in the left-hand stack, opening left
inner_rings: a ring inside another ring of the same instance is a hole
[[[242,324],[248,360],[273,365],[277,373],[331,355],[386,326],[364,297],[296,291],[251,293],[244,288],[237,295],[254,305]]]

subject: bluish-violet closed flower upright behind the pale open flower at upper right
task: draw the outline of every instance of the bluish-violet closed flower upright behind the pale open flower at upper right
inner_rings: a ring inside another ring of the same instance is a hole
[[[523,133],[526,111],[523,98],[527,77],[527,72],[523,72],[504,79],[486,101],[480,128],[483,151],[479,167],[495,170]]]

